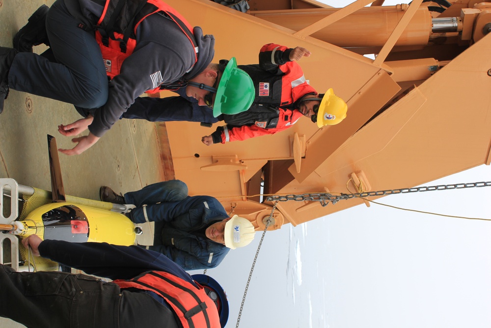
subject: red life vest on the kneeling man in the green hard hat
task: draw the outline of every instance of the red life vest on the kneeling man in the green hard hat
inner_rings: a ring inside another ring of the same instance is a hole
[[[123,61],[135,50],[135,34],[138,25],[146,17],[159,11],[164,12],[168,18],[172,19],[179,26],[183,33],[188,37],[191,46],[195,51],[197,50],[196,41],[191,32],[193,30],[191,25],[181,16],[181,14],[164,1],[140,0],[138,6],[133,8],[133,12],[129,12],[132,9],[125,5],[126,0],[120,0],[116,4],[114,2],[114,0],[106,1],[104,11],[97,22],[99,28],[95,32],[95,38],[101,48],[102,58],[109,78],[112,79],[120,73]],[[119,23],[116,23],[123,15],[120,14],[121,12],[126,13],[126,16],[124,19],[121,19]],[[138,17],[137,22],[135,22],[136,17]],[[127,22],[126,25],[121,25],[123,24],[121,21]],[[119,26],[117,26],[118,24]],[[125,30],[124,34],[121,33],[123,30]],[[196,63],[198,58],[196,53],[194,55],[194,63]],[[159,88],[151,89],[146,92],[154,93],[158,91],[160,91]]]

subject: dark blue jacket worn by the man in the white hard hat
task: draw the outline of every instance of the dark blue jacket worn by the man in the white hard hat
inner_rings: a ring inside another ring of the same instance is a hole
[[[186,270],[215,268],[229,251],[204,235],[211,224],[229,217],[213,197],[188,196],[179,202],[137,207],[131,211],[131,219],[143,223],[145,212],[149,221],[156,222],[156,231],[162,231],[162,240],[156,239],[148,249],[164,254]]]

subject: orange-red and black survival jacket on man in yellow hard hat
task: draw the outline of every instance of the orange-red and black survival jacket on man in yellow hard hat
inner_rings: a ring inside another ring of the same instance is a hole
[[[292,50],[270,43],[261,48],[259,65],[238,66],[254,82],[254,102],[242,113],[222,115],[227,125],[212,133],[214,143],[274,134],[289,128],[303,116],[296,102],[317,91],[306,82],[300,65],[289,61]]]

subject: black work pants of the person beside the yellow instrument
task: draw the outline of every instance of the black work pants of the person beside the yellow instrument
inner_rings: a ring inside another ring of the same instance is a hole
[[[83,274],[16,272],[0,265],[0,316],[35,328],[177,328],[151,296]]]

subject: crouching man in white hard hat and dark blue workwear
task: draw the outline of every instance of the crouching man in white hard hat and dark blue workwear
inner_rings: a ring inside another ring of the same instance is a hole
[[[249,220],[229,217],[213,197],[188,196],[188,186],[180,180],[150,184],[124,196],[103,186],[100,196],[104,202],[134,204],[127,216],[135,223],[154,221],[154,243],[146,247],[186,270],[215,268],[230,249],[254,239]]]

